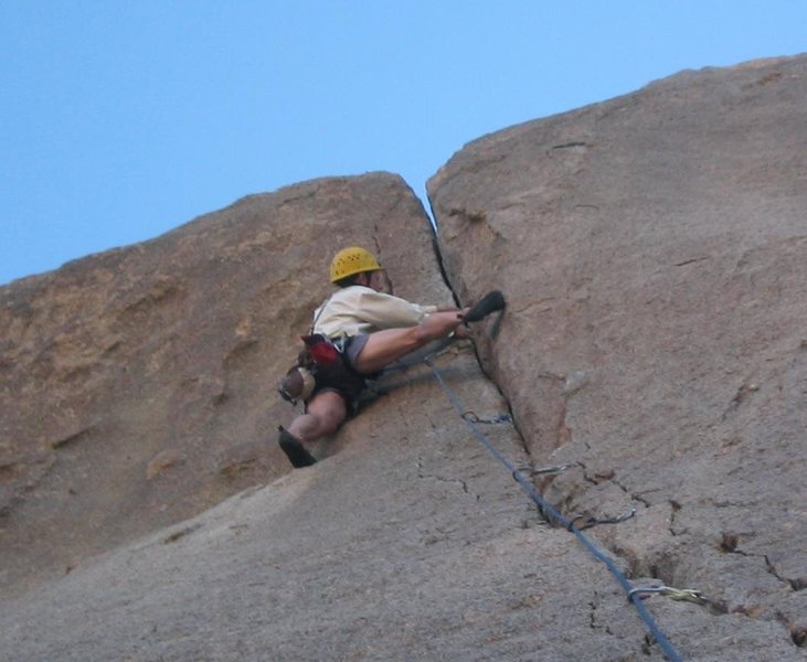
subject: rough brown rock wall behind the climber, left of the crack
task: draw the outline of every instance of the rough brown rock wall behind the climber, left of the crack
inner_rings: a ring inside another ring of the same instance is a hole
[[[2,590],[287,472],[275,383],[352,243],[404,296],[452,303],[421,203],[386,174],[246,197],[0,288]]]

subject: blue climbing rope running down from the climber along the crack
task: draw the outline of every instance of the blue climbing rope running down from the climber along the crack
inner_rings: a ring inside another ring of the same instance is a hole
[[[501,462],[507,468],[507,470],[513,477],[513,480],[521,485],[524,492],[529,494],[529,496],[535,502],[535,504],[541,510],[541,512],[544,513],[544,515],[551,516],[552,520],[562,524],[564,528],[571,531],[574,535],[577,536],[580,542],[583,543],[585,548],[588,549],[588,552],[591,552],[591,554],[595,558],[602,560],[605,564],[608,570],[610,570],[610,574],[616,577],[616,580],[619,583],[623,589],[625,589],[628,599],[634,604],[634,607],[636,607],[639,616],[647,624],[647,629],[649,630],[650,634],[652,634],[652,637],[656,639],[659,647],[663,651],[665,656],[670,662],[681,662],[681,656],[678,654],[676,649],[672,648],[672,644],[669,642],[665,633],[660,630],[660,628],[656,623],[656,620],[652,618],[652,615],[648,611],[647,607],[645,607],[645,604],[641,601],[641,596],[638,592],[631,592],[635,588],[634,585],[619,569],[616,563],[614,563],[614,559],[606,555],[603,551],[601,551],[594,543],[592,543],[588,537],[574,524],[572,520],[559,513],[551,503],[549,503],[543,496],[541,496],[541,494],[539,494],[538,490],[535,490],[535,487],[532,484],[532,481],[530,481],[529,478],[524,476],[524,473],[519,468],[514,467],[512,462],[510,462],[510,460],[508,460],[507,457],[505,457],[490,442],[490,440],[477,427],[474,420],[470,420],[469,417],[463,415],[466,410],[465,407],[463,407],[459,398],[457,398],[454,392],[448,387],[445,380],[443,378],[443,375],[440,375],[439,371],[432,363],[431,357],[426,357],[425,363],[426,365],[428,365],[428,367],[432,369],[432,372],[434,373],[437,383],[443,388],[443,392],[446,394],[448,401],[452,403],[463,420],[465,420],[468,427],[470,427],[479,441],[481,441],[482,446],[488,449],[488,452],[490,452],[490,455],[492,455],[497,460],[499,460],[499,462]]]

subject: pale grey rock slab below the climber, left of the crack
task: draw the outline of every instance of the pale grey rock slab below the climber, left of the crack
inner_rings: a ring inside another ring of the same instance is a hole
[[[440,369],[500,412],[472,354]],[[328,461],[3,604],[6,659],[652,660],[618,586],[539,524],[434,380],[396,378]],[[523,461],[509,426],[492,437]]]

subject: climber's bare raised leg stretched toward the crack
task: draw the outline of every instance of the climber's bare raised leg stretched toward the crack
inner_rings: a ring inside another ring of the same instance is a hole
[[[463,323],[460,311],[434,312],[417,327],[384,329],[371,333],[367,344],[353,361],[353,369],[370,374],[383,370],[402,356],[421,349],[433,340],[445,338]]]

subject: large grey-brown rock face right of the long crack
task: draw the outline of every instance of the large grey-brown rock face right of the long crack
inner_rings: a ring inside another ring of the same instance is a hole
[[[732,659],[804,658],[807,57],[487,136],[428,190],[460,298],[508,292],[479,348],[532,458],[577,463],[548,498],[637,508],[596,532],[636,576],[773,626]]]

